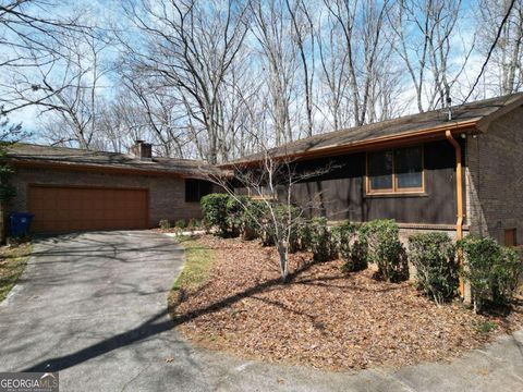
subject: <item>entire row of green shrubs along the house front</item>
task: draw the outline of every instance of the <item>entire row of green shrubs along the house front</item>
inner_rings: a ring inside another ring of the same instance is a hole
[[[329,228],[325,218],[300,219],[297,209],[273,205],[275,220],[267,216],[266,201],[227,194],[204,197],[202,209],[205,221],[216,226],[219,235],[260,238],[266,246],[273,245],[275,230],[290,226],[290,253],[312,252],[316,261],[340,257],[346,272],[374,264],[381,279],[400,282],[409,279],[410,260],[416,269],[418,289],[437,303],[457,295],[461,277],[470,282],[476,310],[486,303],[507,304],[522,272],[518,253],[488,237],[466,236],[454,244],[445,233],[421,233],[409,237],[405,249],[399,226],[392,220],[346,222]],[[292,225],[289,225],[290,220]],[[464,257],[466,268],[460,269],[458,255]]]

